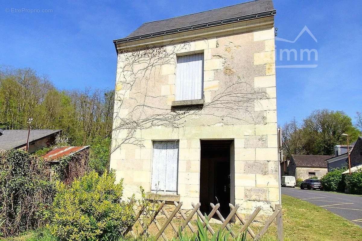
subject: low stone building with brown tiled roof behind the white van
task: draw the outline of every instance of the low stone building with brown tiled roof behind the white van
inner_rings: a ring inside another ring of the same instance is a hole
[[[333,156],[291,155],[290,160],[281,163],[281,175],[294,176],[303,180],[314,176],[320,178],[328,172],[325,160],[331,157]]]

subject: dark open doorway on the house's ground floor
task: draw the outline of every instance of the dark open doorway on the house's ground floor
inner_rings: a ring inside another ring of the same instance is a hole
[[[226,218],[230,213],[230,145],[232,140],[201,140],[200,203],[209,214],[210,203],[220,203]],[[216,215],[214,218],[217,218]]]

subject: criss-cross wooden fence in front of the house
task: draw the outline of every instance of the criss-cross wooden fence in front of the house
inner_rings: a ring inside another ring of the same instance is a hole
[[[149,233],[155,237],[155,241],[157,241],[160,237],[162,237],[164,239],[164,241],[169,241],[169,239],[167,238],[167,236],[165,234],[165,230],[168,227],[168,225],[171,225],[173,231],[175,232],[173,237],[177,238],[178,234],[179,234],[179,232],[178,232],[179,226],[175,225],[173,222],[173,219],[176,218],[177,213],[179,213],[181,215],[182,219],[184,220],[183,223],[181,224],[182,230],[184,230],[186,228],[186,226],[188,226],[192,233],[198,232],[197,228],[193,227],[193,225],[191,224],[191,219],[193,218],[193,216],[195,214],[197,214],[197,216],[203,222],[202,223],[203,227],[205,228],[205,226],[207,226],[207,230],[212,235],[215,233],[215,231],[214,231],[214,229],[212,229],[211,225],[208,222],[206,222],[205,216],[202,215],[201,211],[199,210],[201,203],[197,203],[197,204],[192,203],[193,210],[191,210],[191,212],[188,216],[186,216],[185,212],[182,211],[182,209],[181,209],[182,202],[179,202],[179,203],[174,202],[175,209],[173,210],[173,212],[171,214],[169,214],[168,211],[165,209],[164,201],[158,202],[158,204],[159,204],[159,206],[158,206],[157,210],[155,212],[153,212],[150,219],[147,220],[147,224],[144,224],[142,218],[140,218],[141,215],[143,214],[143,212],[145,211],[144,208],[141,208],[137,212],[132,225],[130,225],[129,227],[126,228],[123,235],[126,236],[128,233],[131,233],[132,236],[137,237],[133,228],[134,228],[134,225],[136,224],[136,222],[138,221],[140,224],[140,227],[142,227],[142,231],[139,234],[140,236],[143,235],[144,233]],[[129,205],[132,205],[132,201],[129,203]],[[249,227],[249,225],[252,223],[252,221],[254,220],[256,215],[260,212],[260,210],[261,210],[260,207],[257,207],[256,210],[250,215],[250,217],[247,220],[244,220],[243,217],[237,212],[237,210],[240,206],[239,204],[236,204],[235,206],[233,206],[232,204],[229,204],[231,211],[230,211],[230,214],[226,218],[224,218],[219,211],[219,207],[220,207],[219,203],[216,205],[214,205],[213,203],[210,203],[210,206],[211,206],[212,210],[211,210],[210,214],[207,215],[207,219],[210,220],[216,214],[218,216],[218,218],[222,221],[220,230],[223,230],[226,228],[230,232],[232,237],[238,236],[238,234],[236,234],[232,230],[232,227],[229,224],[230,221],[235,216],[243,224],[242,227],[240,229],[238,229],[238,233],[242,233],[245,230],[247,230],[247,232],[250,234],[250,236],[255,241],[260,240],[260,238],[265,234],[265,232],[268,230],[270,224],[273,223],[274,220],[276,221],[276,224],[277,224],[277,239],[279,241],[283,241],[283,239],[284,239],[283,238],[283,236],[284,236],[284,234],[283,234],[283,218],[282,218],[283,216],[282,216],[282,206],[281,205],[276,205],[276,207],[275,207],[276,210],[269,217],[269,219],[264,224],[264,227],[262,229],[260,229],[260,231],[257,234],[255,234],[253,232],[253,230]],[[160,223],[157,221],[157,218],[156,218],[157,215],[164,215],[165,218],[167,219],[163,225],[160,225]],[[156,227],[158,229],[157,233],[150,233],[149,227],[152,223],[154,223],[156,225]]]

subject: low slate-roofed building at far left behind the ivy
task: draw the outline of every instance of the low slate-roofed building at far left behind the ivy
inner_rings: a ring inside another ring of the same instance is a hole
[[[25,149],[29,130],[2,130],[0,132],[0,150]],[[55,137],[62,130],[30,130],[29,153],[54,144]]]

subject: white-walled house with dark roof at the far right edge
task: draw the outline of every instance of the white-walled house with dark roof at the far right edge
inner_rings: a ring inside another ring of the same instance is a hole
[[[336,156],[327,159],[328,171],[334,168],[348,167],[348,152],[347,146],[334,146]],[[362,164],[362,137],[358,137],[357,141],[349,146],[349,157],[351,167]]]

